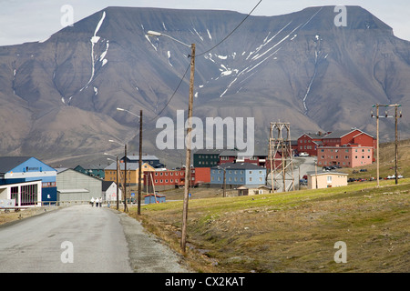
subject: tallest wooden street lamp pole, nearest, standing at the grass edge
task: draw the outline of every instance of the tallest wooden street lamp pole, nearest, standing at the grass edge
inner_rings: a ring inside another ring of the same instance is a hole
[[[181,238],[180,238],[180,247],[183,253],[186,250],[186,242],[187,242],[187,220],[188,220],[188,201],[189,201],[189,188],[190,188],[190,144],[191,144],[191,137],[190,132],[192,130],[192,104],[193,104],[193,85],[194,85],[194,73],[195,73],[195,44],[187,45],[178,39],[173,38],[169,35],[164,35],[156,31],[149,30],[147,35],[149,36],[166,36],[173,41],[181,45],[185,45],[190,47],[190,98],[188,103],[188,126],[187,126],[187,151],[186,151],[186,167],[185,167],[185,187],[184,187],[184,206],[183,206],[183,213],[182,213],[182,230],[181,230]]]

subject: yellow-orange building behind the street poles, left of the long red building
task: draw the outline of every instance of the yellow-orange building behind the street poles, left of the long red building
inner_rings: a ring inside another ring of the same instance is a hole
[[[123,177],[125,175],[125,163],[119,163],[120,171],[118,175],[119,184],[122,183]],[[141,180],[144,184],[144,172],[145,171],[155,171],[153,166],[149,166],[148,163],[142,164],[142,175]],[[104,169],[105,177],[104,181],[114,181],[117,183],[117,163],[112,163]],[[130,186],[138,185],[138,163],[127,163],[127,183]]]

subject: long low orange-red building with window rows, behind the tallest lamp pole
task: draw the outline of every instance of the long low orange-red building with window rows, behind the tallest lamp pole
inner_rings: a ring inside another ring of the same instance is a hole
[[[191,186],[210,183],[210,168],[195,167],[190,169]],[[185,185],[185,169],[146,171],[144,172],[144,186],[146,191],[161,191]]]

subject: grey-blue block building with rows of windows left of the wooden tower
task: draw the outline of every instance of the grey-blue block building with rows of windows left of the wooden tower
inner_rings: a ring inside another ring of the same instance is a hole
[[[226,163],[210,168],[210,185],[222,186],[265,185],[266,168],[249,163]]]

